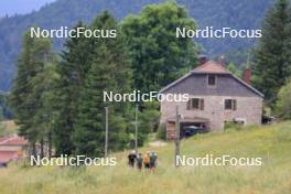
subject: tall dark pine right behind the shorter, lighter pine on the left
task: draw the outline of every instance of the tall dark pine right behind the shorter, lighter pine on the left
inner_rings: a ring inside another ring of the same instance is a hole
[[[74,29],[87,28],[79,22]],[[88,44],[88,39],[71,37],[65,43],[62,53],[62,63],[57,66],[60,78],[58,100],[60,117],[55,130],[55,149],[57,154],[71,154],[74,146],[71,139],[76,118],[80,90],[85,85],[90,63],[90,53],[94,51]]]

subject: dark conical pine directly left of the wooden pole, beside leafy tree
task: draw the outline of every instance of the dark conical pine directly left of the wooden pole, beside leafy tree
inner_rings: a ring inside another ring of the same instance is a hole
[[[111,64],[103,63],[99,57],[108,60],[105,46],[100,47],[99,56],[93,63],[83,89],[79,121],[74,134],[76,152],[86,155],[100,155],[104,151],[105,105],[103,104],[101,88],[106,90],[114,84],[108,74]]]

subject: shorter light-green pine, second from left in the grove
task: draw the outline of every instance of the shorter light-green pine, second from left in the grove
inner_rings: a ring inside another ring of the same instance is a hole
[[[58,80],[60,75],[56,72],[56,65],[54,63],[46,63],[43,71],[37,73],[31,80],[33,85],[31,97],[37,99],[35,101],[35,114],[32,120],[33,126],[40,130],[37,132],[37,139],[42,148],[41,157],[44,155],[44,142],[47,142],[48,157],[52,157],[53,133],[60,112],[56,104]]]

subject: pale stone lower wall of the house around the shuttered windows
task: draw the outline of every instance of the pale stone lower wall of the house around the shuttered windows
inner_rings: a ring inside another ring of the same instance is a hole
[[[245,125],[260,125],[262,115],[262,98],[260,97],[234,97],[234,96],[191,96],[191,98],[204,99],[204,110],[187,109],[187,103],[161,103],[161,122],[166,125],[166,139],[174,139],[175,108],[183,118],[208,119],[208,130],[223,131],[225,121],[239,120]],[[225,110],[225,99],[237,101],[236,110]],[[170,121],[171,119],[171,121]]]

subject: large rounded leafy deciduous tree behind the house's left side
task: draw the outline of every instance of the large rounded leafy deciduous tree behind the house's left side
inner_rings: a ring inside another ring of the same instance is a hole
[[[190,37],[176,37],[176,28],[195,30],[183,7],[174,2],[147,6],[122,24],[133,69],[134,88],[160,90],[196,64],[196,45]]]

